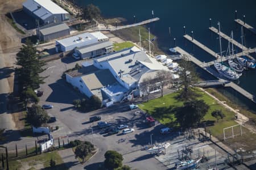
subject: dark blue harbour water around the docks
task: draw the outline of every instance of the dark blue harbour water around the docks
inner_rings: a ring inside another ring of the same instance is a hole
[[[77,0],[77,4],[84,6],[89,3],[100,7],[102,15],[106,18],[122,17],[126,18],[128,23],[133,23],[133,16],[136,16],[137,22],[150,19],[151,10],[154,10],[154,16],[160,20],[146,25],[158,37],[160,49],[167,52],[170,46],[176,44],[194,54],[201,61],[208,62],[214,59],[208,53],[183,39],[183,26],[185,31],[196,40],[208,46],[214,51],[219,51],[217,35],[211,33],[208,29],[209,18],[212,18],[212,25],[217,28],[217,22],[221,23],[221,31],[230,35],[234,31],[234,39],[241,42],[241,27],[234,22],[237,10],[237,18],[243,19],[245,15],[246,23],[256,28],[256,1],[255,0],[225,0],[225,1],[205,1],[205,0],[159,0],[159,1],[100,1],[100,0]],[[169,35],[171,27],[171,36]],[[248,48],[256,46],[256,35],[245,30],[245,46]],[[222,49],[226,50],[228,41],[222,39]],[[241,52],[236,48],[237,52]],[[256,57],[255,54],[252,56]],[[256,96],[256,70],[244,71],[242,77],[237,81],[242,88]]]

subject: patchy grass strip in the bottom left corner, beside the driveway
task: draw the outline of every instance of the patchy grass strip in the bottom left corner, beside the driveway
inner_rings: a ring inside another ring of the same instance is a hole
[[[55,160],[55,168],[51,168],[49,162]],[[11,160],[9,162],[10,170],[14,169],[68,169],[57,151],[43,153],[41,155],[30,156],[20,160]]]

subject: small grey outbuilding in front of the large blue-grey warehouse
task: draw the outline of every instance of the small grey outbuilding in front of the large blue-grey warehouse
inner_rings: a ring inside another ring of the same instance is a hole
[[[36,36],[40,41],[50,41],[70,35],[70,29],[65,23],[49,24],[36,29]]]

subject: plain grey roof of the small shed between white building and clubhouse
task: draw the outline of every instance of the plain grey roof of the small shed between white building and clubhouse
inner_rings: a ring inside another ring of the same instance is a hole
[[[85,53],[93,52],[94,50],[106,48],[106,47],[112,46],[112,45],[113,45],[113,43],[110,41],[101,41],[101,42],[96,42],[94,44],[83,46],[81,48],[78,48],[77,50],[81,54],[85,54]]]

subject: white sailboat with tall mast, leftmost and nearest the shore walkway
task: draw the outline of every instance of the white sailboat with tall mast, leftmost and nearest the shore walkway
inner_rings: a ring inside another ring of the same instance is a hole
[[[218,22],[218,31],[220,32],[220,22]],[[215,61],[214,67],[220,73],[220,75],[225,76],[225,78],[228,78],[230,80],[237,80],[240,78],[242,73],[237,74],[236,71],[231,70],[229,67],[222,64],[222,49],[221,49],[221,36],[219,34],[220,39],[220,56],[221,56],[221,63]]]

